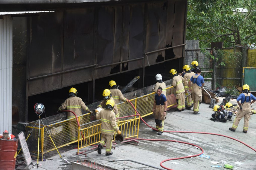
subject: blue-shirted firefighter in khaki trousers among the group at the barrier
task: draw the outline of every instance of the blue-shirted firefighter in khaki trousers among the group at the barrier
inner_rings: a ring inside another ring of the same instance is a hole
[[[191,88],[191,82],[192,84],[192,89]],[[193,111],[194,115],[199,115],[199,104],[202,101],[202,86],[204,86],[204,78],[201,76],[201,69],[197,69],[197,73],[192,76],[189,80],[189,91],[191,93],[192,100],[194,101],[193,105]]]

